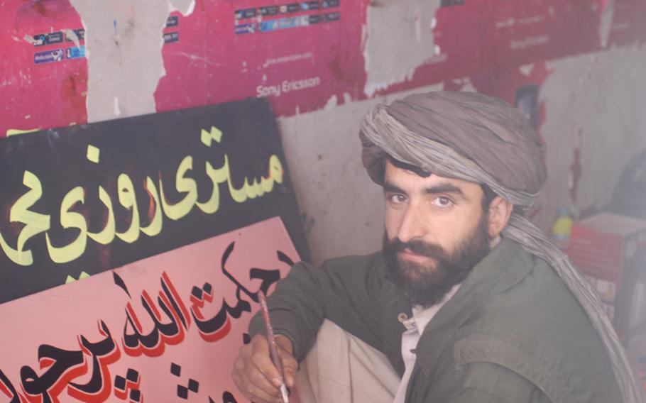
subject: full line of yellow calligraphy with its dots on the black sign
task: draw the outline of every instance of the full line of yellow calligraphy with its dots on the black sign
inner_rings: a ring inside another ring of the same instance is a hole
[[[207,138],[214,140],[202,140],[207,147],[221,142],[223,135],[217,128],[212,127],[211,134],[204,130],[202,132],[210,136]],[[121,172],[116,179],[116,198],[111,196],[104,186],[99,185],[94,193],[89,187],[79,184],[65,193],[60,201],[60,223],[53,223],[52,215],[42,211],[38,201],[43,199],[43,183],[38,175],[25,170],[22,184],[26,191],[9,208],[9,221],[19,224],[20,230],[15,239],[11,239],[13,234],[10,236],[8,233],[0,233],[0,248],[13,263],[31,266],[34,264],[34,255],[28,245],[34,237],[44,233],[50,260],[58,264],[70,263],[83,255],[88,243],[108,245],[116,238],[121,242],[133,244],[142,234],[150,238],[159,236],[165,220],[181,220],[195,209],[204,214],[216,214],[223,197],[220,192],[221,184],[223,187],[226,184],[226,191],[231,199],[241,204],[273,192],[275,184],[282,184],[285,175],[280,158],[272,154],[265,165],[266,175],[243,176],[241,184],[236,185],[229,155],[225,153],[219,167],[214,167],[211,161],[204,162],[202,166],[209,179],[207,182],[210,182],[210,189],[204,189],[204,186],[200,189],[195,180],[198,165],[192,155],[186,155],[177,165],[174,184],[173,181],[165,180],[158,172],[156,178],[150,175],[145,177],[141,184],[143,189],[138,188],[140,184],[133,182],[130,175]],[[147,214],[141,214],[140,209],[143,206],[138,204],[138,192],[148,199]],[[181,199],[171,201],[169,192],[180,194]],[[89,194],[97,195],[100,206],[104,209],[102,223],[92,222],[87,218],[87,214],[77,211],[86,204]],[[121,226],[115,218],[117,207],[124,209],[128,215],[124,231],[117,228]],[[99,224],[102,225],[99,231],[89,230],[99,228]],[[66,241],[62,241],[58,233],[52,233],[53,230],[60,231],[59,226],[65,231],[74,231],[75,238],[70,241],[65,237]]]

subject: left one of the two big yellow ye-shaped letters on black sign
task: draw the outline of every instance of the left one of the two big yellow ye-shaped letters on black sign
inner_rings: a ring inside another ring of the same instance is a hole
[[[85,245],[87,245],[87,222],[82,214],[70,211],[72,206],[79,202],[84,203],[84,201],[85,192],[82,187],[77,186],[65,194],[60,204],[60,225],[62,228],[78,228],[81,231],[72,243],[57,248],[52,245],[49,233],[45,233],[47,250],[54,263],[71,262],[85,251]]]

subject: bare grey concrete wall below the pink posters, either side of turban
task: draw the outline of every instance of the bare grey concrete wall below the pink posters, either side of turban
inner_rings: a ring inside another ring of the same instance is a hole
[[[546,109],[540,131],[547,145],[549,176],[534,219],[545,231],[559,206],[572,202],[569,178],[575,148],[581,149],[575,204],[579,211],[605,206],[628,160],[646,149],[644,48],[566,57],[549,62],[548,67],[552,73],[540,90]],[[411,92],[441,88],[435,85]],[[405,94],[330,104],[322,111],[280,119],[314,261],[380,247],[381,188],[361,166],[358,121],[373,104]]]

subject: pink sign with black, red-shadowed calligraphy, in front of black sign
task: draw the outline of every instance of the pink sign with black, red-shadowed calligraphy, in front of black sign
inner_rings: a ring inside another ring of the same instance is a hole
[[[258,292],[298,260],[275,217],[1,304],[0,402],[244,402]]]

